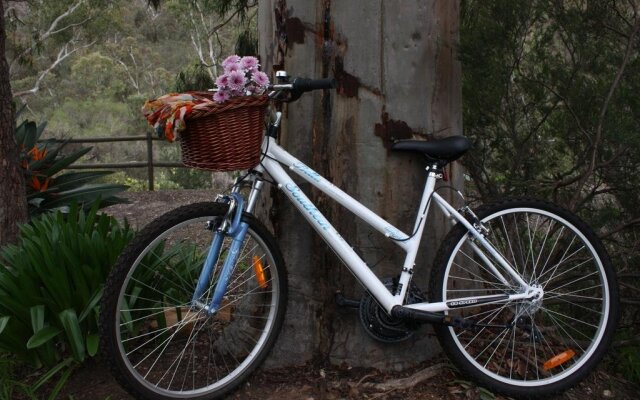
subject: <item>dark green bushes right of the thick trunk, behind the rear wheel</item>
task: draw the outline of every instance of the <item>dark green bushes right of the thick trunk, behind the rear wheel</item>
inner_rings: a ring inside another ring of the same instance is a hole
[[[552,198],[596,230],[620,276],[636,276],[640,1],[463,0],[461,8],[474,195]],[[634,283],[621,279],[626,304],[638,304]],[[623,309],[631,337],[636,314]],[[619,365],[637,371],[638,346],[621,351]]]

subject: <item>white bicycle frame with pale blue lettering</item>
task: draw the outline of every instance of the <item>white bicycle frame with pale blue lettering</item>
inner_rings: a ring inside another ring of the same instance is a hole
[[[304,218],[311,224],[311,226],[318,232],[318,234],[325,240],[331,249],[340,257],[343,263],[349,268],[349,270],[355,275],[360,283],[371,293],[371,295],[378,301],[378,303],[388,312],[396,306],[403,306],[404,299],[407,294],[407,289],[411,281],[411,275],[413,273],[414,262],[418,253],[420,241],[422,240],[422,233],[424,231],[427,214],[429,212],[429,205],[433,200],[440,209],[447,215],[448,218],[457,221],[467,228],[469,234],[473,236],[475,240],[469,241],[469,244],[474,249],[474,252],[480,257],[480,259],[486,264],[486,267],[491,270],[493,274],[504,284],[513,286],[512,283],[503,276],[499,267],[505,271],[509,276],[513,278],[513,281],[517,282],[520,286],[516,286],[514,292],[516,294],[500,295],[500,296],[476,296],[456,298],[455,301],[443,301],[437,303],[414,303],[406,305],[406,308],[428,311],[428,312],[440,312],[453,308],[471,307],[478,304],[490,304],[490,303],[504,303],[513,300],[531,299],[536,296],[540,296],[541,289],[530,286],[525,282],[522,277],[514,270],[507,260],[504,259],[494,247],[485,239],[484,235],[479,232],[474,226],[467,221],[454,207],[452,207],[445,199],[443,199],[438,193],[434,191],[436,180],[438,179],[433,169],[427,169],[428,173],[426,185],[422,194],[422,200],[416,221],[414,224],[414,234],[410,237],[400,229],[388,223],[382,217],[362,205],[360,202],[349,196],[340,188],[327,181],[316,171],[306,166],[300,160],[296,159],[276,141],[265,136],[262,144],[262,152],[266,154],[260,165],[255,170],[260,173],[265,171],[271,176],[271,178],[277,183],[278,188],[291,200],[293,205],[302,213]],[[302,192],[302,190],[295,184],[291,177],[287,174],[285,169],[295,172],[311,185],[318,188],[323,193],[327,194],[338,204],[342,205],[371,227],[382,233],[400,248],[406,252],[406,258],[403,264],[402,272],[399,279],[399,287],[401,290],[399,293],[392,294],[385,287],[382,281],[371,271],[367,264],[356,254],[356,252],[349,246],[344,238],[336,231],[331,223],[322,215],[318,208],[309,200],[309,198]],[[262,187],[262,181],[254,180],[253,188],[248,200],[247,211],[251,212],[255,204],[255,199]],[[482,247],[486,252],[493,257],[497,262],[492,262],[486,254],[479,248]],[[512,281],[512,282],[513,282]],[[519,290],[518,290],[519,289]]]

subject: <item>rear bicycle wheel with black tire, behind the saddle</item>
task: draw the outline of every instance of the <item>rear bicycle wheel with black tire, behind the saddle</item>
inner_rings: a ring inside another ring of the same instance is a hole
[[[491,390],[529,398],[570,388],[602,359],[617,325],[618,289],[606,250],[584,222],[551,203],[507,200],[477,215],[487,240],[543,297],[449,310],[478,327],[436,327],[442,346]],[[518,293],[520,285],[464,227],[448,234],[434,263],[431,301]]]

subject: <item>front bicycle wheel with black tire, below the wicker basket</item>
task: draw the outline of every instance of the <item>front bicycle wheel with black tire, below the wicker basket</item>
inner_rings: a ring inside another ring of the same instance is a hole
[[[275,343],[286,311],[286,267],[273,236],[249,214],[242,216],[249,230],[219,311],[208,315],[191,306],[213,236],[207,222],[227,209],[196,203],[157,218],[123,251],[107,280],[101,349],[116,380],[137,398],[220,398],[246,380]]]

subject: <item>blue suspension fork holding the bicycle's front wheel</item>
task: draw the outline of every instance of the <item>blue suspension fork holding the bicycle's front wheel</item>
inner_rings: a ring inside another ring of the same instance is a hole
[[[227,290],[229,279],[231,278],[231,274],[233,273],[238,257],[240,256],[242,242],[244,242],[244,238],[249,229],[249,225],[246,222],[241,222],[242,209],[244,206],[242,196],[238,193],[232,193],[231,196],[223,197],[221,201],[229,204],[229,211],[227,212],[224,221],[222,221],[222,224],[219,227],[213,227],[213,229],[215,229],[215,233],[213,235],[213,241],[211,242],[211,248],[207,254],[204,266],[200,272],[200,277],[198,278],[196,290],[191,299],[193,306],[207,310],[208,314],[213,314],[220,308],[222,297]],[[218,262],[222,242],[226,236],[232,238],[231,246],[229,246],[227,257],[224,260],[224,265],[222,266],[222,270],[220,271],[218,280],[215,284],[213,297],[209,304],[204,304],[201,301],[201,298],[209,286],[211,273]]]

